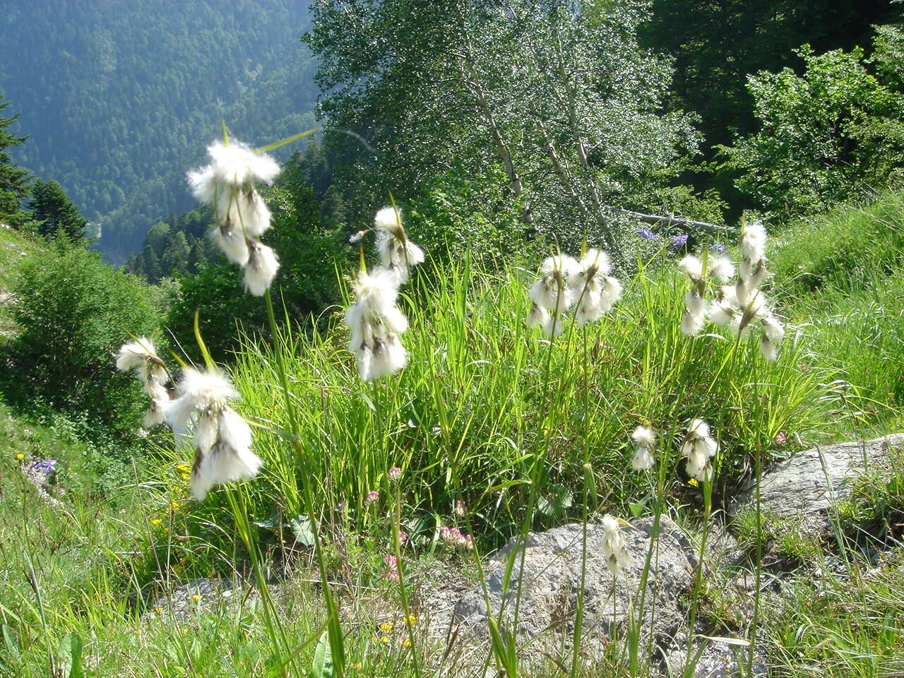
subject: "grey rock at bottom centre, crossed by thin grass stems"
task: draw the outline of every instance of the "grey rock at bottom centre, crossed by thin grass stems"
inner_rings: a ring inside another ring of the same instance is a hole
[[[614,636],[624,639],[627,631],[627,609],[630,602],[638,605],[641,573],[650,548],[653,519],[623,527],[626,546],[634,564],[625,577],[615,578],[602,555],[603,529],[588,526],[587,574],[584,588],[584,621],[581,653],[590,661],[601,657]],[[504,626],[511,633],[514,601],[518,589],[521,550],[514,556],[512,577],[503,596],[507,556],[513,552],[515,540],[491,560],[487,568],[486,587],[494,617],[504,604]],[[679,608],[679,597],[692,584],[692,544],[671,519],[663,516],[659,538],[651,561],[646,584],[642,646],[652,634],[660,648],[672,646],[682,626],[686,626]],[[581,525],[571,524],[531,533],[524,551],[521,603],[517,637],[519,645],[527,644],[531,654],[567,651],[574,634],[574,619],[581,569]],[[453,623],[467,636],[489,637],[483,590],[478,586],[458,601]],[[530,662],[530,655],[524,657]]]

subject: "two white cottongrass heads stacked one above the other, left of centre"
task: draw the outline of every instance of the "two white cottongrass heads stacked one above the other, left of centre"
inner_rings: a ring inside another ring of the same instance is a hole
[[[345,324],[351,330],[348,348],[357,359],[358,376],[363,381],[394,374],[408,363],[400,339],[408,329],[408,320],[396,300],[399,287],[410,278],[410,268],[424,261],[423,250],[408,240],[397,208],[384,207],[377,212],[373,228],[381,266],[358,273],[353,283],[355,301],[345,312]]]

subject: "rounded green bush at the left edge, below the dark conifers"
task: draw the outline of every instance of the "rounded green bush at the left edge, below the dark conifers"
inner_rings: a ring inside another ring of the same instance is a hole
[[[52,257],[28,261],[14,292],[19,334],[9,348],[15,368],[5,374],[6,395],[134,429],[143,399],[133,375],[110,366],[127,331],[156,332],[146,287],[99,254],[61,245]]]

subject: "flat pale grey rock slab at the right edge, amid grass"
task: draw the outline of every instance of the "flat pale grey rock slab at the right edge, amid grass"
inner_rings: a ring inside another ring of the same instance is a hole
[[[763,474],[760,507],[764,513],[779,518],[797,519],[800,532],[812,535],[828,532],[829,509],[850,494],[850,480],[868,466],[879,464],[891,448],[901,446],[904,446],[904,434],[898,433],[798,452]],[[755,487],[750,485],[730,506],[730,513],[737,515],[755,506]]]

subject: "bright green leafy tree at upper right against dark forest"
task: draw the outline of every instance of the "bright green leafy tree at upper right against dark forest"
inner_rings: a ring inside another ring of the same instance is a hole
[[[791,69],[749,79],[758,132],[725,147],[738,187],[786,217],[885,185],[904,166],[904,108],[863,64],[863,52],[799,52]]]

